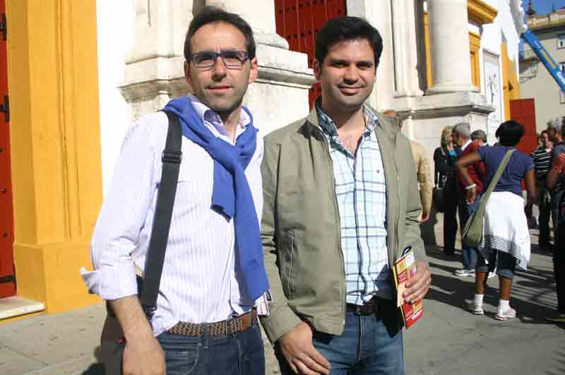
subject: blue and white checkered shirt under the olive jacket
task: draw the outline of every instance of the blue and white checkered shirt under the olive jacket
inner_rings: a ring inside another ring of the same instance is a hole
[[[386,249],[386,184],[375,126],[379,119],[364,107],[366,127],[353,155],[338,138],[338,128],[319,106],[318,119],[328,141],[340,214],[347,303],[362,304],[375,294],[391,298]]]

